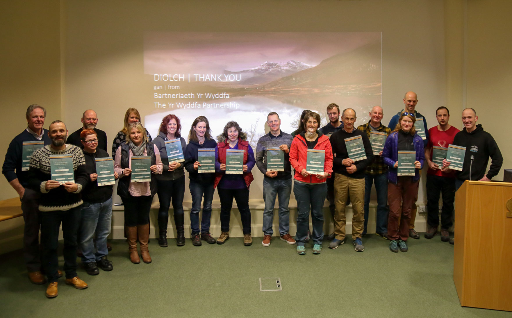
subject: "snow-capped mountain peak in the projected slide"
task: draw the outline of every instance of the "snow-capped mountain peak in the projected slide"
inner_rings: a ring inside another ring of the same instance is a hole
[[[295,60],[287,62],[269,62],[266,61],[260,66],[248,70],[231,72],[224,71],[224,74],[241,74],[244,84],[259,84],[265,83],[283,76],[288,76],[296,72],[313,68],[314,65],[309,65]]]

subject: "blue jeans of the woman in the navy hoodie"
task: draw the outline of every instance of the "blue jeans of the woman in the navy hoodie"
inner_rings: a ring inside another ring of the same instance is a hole
[[[190,229],[192,235],[199,234],[199,211],[203,200],[203,217],[201,219],[201,233],[210,231],[211,201],[214,200],[214,184],[201,183],[190,180],[188,183],[192,196],[192,208],[190,209]]]

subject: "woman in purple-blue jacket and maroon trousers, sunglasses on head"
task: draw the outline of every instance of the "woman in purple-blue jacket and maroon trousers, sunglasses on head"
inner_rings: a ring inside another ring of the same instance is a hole
[[[388,169],[388,239],[391,240],[389,249],[393,252],[398,252],[398,248],[402,252],[408,250],[406,241],[409,237],[411,210],[414,198],[418,195],[419,171],[425,160],[423,140],[414,129],[415,122],[414,113],[402,112],[395,130],[386,139],[382,151],[382,160],[390,166]],[[399,151],[416,152],[414,176],[398,176]]]

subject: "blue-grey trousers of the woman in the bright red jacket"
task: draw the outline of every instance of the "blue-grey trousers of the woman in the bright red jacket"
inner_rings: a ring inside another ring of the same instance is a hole
[[[295,240],[297,246],[304,246],[309,228],[309,207],[311,206],[311,220],[313,244],[322,244],[324,240],[324,201],[327,193],[326,183],[293,183],[293,194],[297,199],[297,232]]]

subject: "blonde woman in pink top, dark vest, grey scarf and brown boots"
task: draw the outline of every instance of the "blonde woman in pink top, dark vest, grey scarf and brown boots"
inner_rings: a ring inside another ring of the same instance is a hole
[[[157,192],[155,174],[162,174],[163,164],[156,145],[147,138],[146,131],[140,122],[130,126],[131,133],[116,150],[114,171],[119,175],[117,194],[124,205],[124,224],[128,237],[130,260],[139,264],[137,238],[144,263],[151,263],[147,242],[150,236],[149,215],[153,196]],[[132,182],[132,157],[151,157],[151,181]]]

